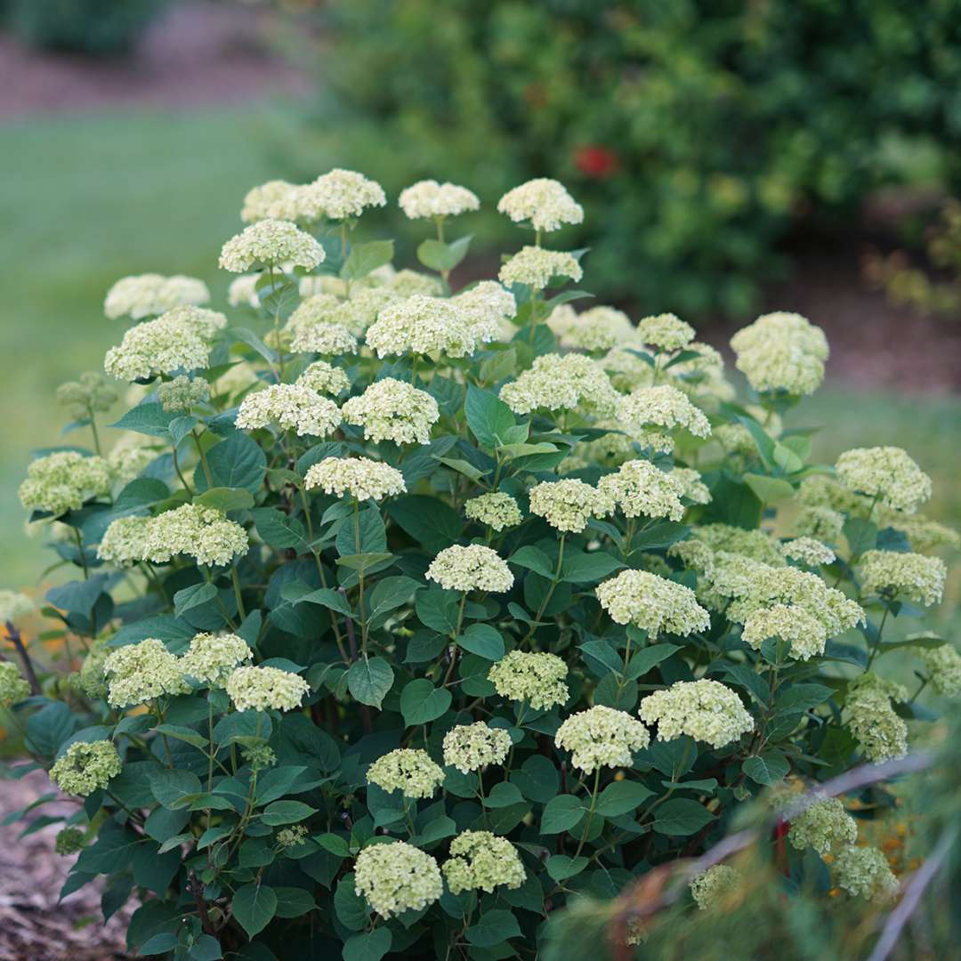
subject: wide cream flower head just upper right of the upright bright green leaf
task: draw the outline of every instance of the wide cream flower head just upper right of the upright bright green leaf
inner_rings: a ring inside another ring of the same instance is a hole
[[[505,383],[500,392],[515,414],[579,408],[604,416],[614,412],[618,396],[601,365],[583,354],[535,357],[530,370]]]

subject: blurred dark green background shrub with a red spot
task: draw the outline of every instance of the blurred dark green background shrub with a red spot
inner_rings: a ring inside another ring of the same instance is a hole
[[[556,177],[591,211],[564,243],[607,238],[592,289],[646,310],[743,313],[792,231],[961,172],[959,0],[297,6],[325,36],[298,173],[334,154],[391,193],[443,170],[484,197]],[[506,229],[488,204],[480,238]]]

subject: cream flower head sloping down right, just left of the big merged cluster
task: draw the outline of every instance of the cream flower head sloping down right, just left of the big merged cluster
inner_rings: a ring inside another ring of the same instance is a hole
[[[622,571],[595,589],[615,624],[632,624],[660,634],[688,634],[710,627],[710,615],[689,587],[647,571]]]

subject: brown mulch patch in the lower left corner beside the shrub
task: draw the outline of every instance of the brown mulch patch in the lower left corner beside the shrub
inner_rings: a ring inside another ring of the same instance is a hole
[[[42,771],[21,780],[0,779],[0,812],[25,807],[52,790]],[[69,801],[52,801],[27,815],[69,815]],[[62,857],[54,839],[62,825],[41,827],[24,838],[26,825],[0,825],[0,961],[112,961],[127,958],[124,931],[133,900],[103,924],[100,888],[87,885],[59,900],[76,855]]]

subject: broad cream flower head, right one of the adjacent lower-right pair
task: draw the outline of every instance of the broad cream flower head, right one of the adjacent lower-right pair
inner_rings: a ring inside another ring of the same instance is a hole
[[[657,725],[658,741],[686,734],[712,748],[724,748],[754,729],[754,719],[737,694],[720,681],[678,680],[649,694],[638,708],[641,720]]]

